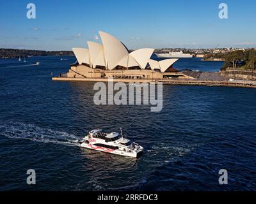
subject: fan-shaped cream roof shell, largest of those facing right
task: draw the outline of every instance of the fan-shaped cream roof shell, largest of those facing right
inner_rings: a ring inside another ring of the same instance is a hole
[[[138,62],[141,69],[145,69],[153,52],[152,48],[143,48],[131,52],[130,55]]]

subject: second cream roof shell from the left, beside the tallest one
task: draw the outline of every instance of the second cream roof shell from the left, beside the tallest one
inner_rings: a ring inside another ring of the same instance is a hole
[[[90,51],[91,66],[95,68],[97,65],[106,66],[104,57],[104,48],[99,43],[88,41],[88,48]]]

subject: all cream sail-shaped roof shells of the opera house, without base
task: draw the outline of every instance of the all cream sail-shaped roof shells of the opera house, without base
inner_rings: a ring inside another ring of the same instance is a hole
[[[143,48],[129,53],[125,45],[111,34],[102,31],[99,31],[99,34],[102,45],[88,41],[88,48],[72,48],[79,64],[86,64],[90,68],[101,66],[108,70],[113,70],[118,66],[127,69],[132,67],[145,69],[149,65],[152,70],[160,69],[161,72],[164,72],[178,60],[152,60],[150,59],[154,52],[152,48]]]

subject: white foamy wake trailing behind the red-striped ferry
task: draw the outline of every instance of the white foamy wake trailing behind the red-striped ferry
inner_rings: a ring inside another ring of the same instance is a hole
[[[31,124],[20,122],[1,123],[0,136],[68,146],[80,146],[79,139],[81,139],[76,135],[66,132],[55,131],[49,128],[39,128]]]

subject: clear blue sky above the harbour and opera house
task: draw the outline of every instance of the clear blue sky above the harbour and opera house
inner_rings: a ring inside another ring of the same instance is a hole
[[[26,17],[35,3],[36,19]],[[228,19],[218,6],[228,5]],[[256,47],[256,1],[0,1],[0,48],[71,50],[105,31],[128,48]]]

